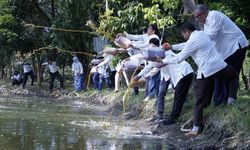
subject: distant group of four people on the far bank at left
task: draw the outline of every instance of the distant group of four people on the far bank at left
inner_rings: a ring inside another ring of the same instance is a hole
[[[25,88],[28,77],[31,78],[31,86],[34,85],[35,80],[35,74],[33,71],[33,68],[30,63],[27,61],[18,63],[19,65],[22,65],[23,68],[23,78],[22,75],[18,71],[14,71],[12,79],[12,85],[13,86],[20,86],[22,84],[22,88]],[[48,66],[49,68],[49,74],[50,74],[50,84],[49,84],[49,90],[50,93],[53,93],[53,87],[54,87],[54,81],[57,78],[60,82],[60,89],[63,89],[64,87],[64,81],[62,76],[59,73],[59,67],[57,66],[56,62],[53,61],[51,58],[48,59],[47,62],[44,62],[41,64],[42,66]],[[76,91],[81,91],[85,88],[84,86],[84,77],[83,77],[83,65],[79,61],[79,59],[75,56],[73,57],[73,63],[72,63],[72,74],[74,77],[74,88]]]

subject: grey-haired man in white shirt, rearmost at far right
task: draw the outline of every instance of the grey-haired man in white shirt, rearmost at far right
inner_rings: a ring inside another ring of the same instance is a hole
[[[196,6],[194,17],[203,26],[223,60],[237,69],[238,79],[235,83],[239,86],[239,73],[249,45],[244,33],[229,17],[219,11],[209,11],[202,4]],[[236,100],[237,97],[228,96],[228,84],[226,80],[215,80],[215,105],[231,104]]]

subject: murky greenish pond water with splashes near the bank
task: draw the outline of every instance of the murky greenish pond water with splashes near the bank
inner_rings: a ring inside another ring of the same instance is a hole
[[[79,101],[0,98],[0,150],[172,149],[162,139],[120,134],[130,128],[117,122]]]

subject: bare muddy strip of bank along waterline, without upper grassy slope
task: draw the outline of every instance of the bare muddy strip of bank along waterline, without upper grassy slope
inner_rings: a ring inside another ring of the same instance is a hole
[[[107,115],[117,116],[124,120],[127,125],[136,127],[136,133],[140,135],[152,135],[163,138],[177,149],[249,149],[250,137],[237,129],[225,127],[216,118],[207,118],[206,127],[199,137],[188,139],[180,131],[187,118],[181,118],[176,124],[163,126],[152,125],[148,121],[153,116],[154,101],[144,103],[142,99],[131,100],[128,110],[122,108],[122,96],[124,92],[113,93],[112,91],[88,91],[73,92],[72,90],[55,90],[49,94],[46,86],[27,86],[26,89],[1,85],[1,97],[29,97],[49,98],[54,100],[82,101]],[[136,99],[136,97],[130,97]],[[108,125],[106,125],[108,126]],[[108,128],[106,128],[108,130]],[[132,133],[131,133],[132,134]]]

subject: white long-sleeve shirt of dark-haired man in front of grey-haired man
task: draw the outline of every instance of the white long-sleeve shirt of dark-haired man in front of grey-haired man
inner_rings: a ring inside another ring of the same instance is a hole
[[[193,31],[189,40],[182,45],[184,47],[180,53],[164,58],[163,63],[177,64],[191,56],[198,66],[197,79],[201,79],[202,75],[207,78],[227,66],[204,31]]]

